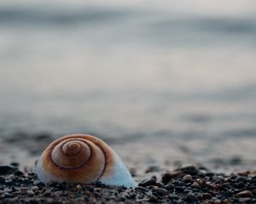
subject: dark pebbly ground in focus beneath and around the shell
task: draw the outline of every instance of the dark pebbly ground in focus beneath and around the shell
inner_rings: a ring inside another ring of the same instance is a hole
[[[135,180],[135,172],[131,172]],[[156,176],[157,175],[157,176]],[[256,203],[256,171],[212,173],[202,166],[163,172],[148,167],[137,187],[105,184],[43,184],[19,163],[0,166],[1,203]]]

